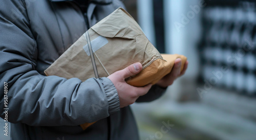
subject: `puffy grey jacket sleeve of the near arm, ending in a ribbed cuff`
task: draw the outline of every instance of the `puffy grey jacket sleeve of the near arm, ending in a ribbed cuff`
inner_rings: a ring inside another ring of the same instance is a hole
[[[0,5],[0,111],[8,83],[8,122],[31,126],[80,125],[118,111],[119,98],[108,78],[42,76],[36,70],[37,44],[23,1]]]

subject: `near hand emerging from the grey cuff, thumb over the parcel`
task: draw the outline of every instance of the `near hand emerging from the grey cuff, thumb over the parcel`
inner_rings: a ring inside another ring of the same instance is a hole
[[[121,108],[133,104],[140,96],[145,95],[150,90],[151,84],[144,87],[135,87],[125,82],[126,78],[138,74],[141,70],[142,64],[134,63],[108,77],[116,87]]]

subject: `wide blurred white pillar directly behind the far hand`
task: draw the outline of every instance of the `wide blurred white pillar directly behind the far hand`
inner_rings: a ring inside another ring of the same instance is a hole
[[[199,72],[197,43],[201,33],[202,14],[202,7],[198,2],[164,0],[166,53],[185,55],[189,61],[186,74],[168,88],[170,98],[174,100],[179,100],[185,92],[194,95],[196,92],[195,81]],[[193,11],[190,7],[199,9]]]

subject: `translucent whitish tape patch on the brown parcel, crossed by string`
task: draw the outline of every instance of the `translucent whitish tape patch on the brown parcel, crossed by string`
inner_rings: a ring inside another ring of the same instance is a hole
[[[103,37],[103,36],[99,36],[99,37],[93,39],[91,41],[93,53],[95,51],[97,51],[98,49],[100,49],[105,44],[107,44],[108,42],[109,41],[105,37]],[[88,44],[83,46],[83,50],[86,51],[88,56],[90,56],[90,51],[89,51],[89,48],[88,48]]]

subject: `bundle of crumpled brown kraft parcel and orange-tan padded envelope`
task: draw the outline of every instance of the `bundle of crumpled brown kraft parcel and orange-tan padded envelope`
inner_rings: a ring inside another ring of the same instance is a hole
[[[186,62],[186,57],[182,55],[161,55],[134,18],[118,8],[84,33],[45,70],[45,74],[67,79],[79,78],[82,81],[95,77],[89,45],[99,77],[108,77],[130,64],[140,62],[143,70],[126,79],[133,86],[155,84],[172,70],[176,58],[182,59],[181,71]],[[84,130],[92,124],[80,126]]]

